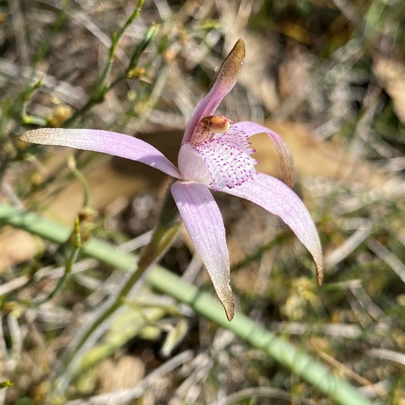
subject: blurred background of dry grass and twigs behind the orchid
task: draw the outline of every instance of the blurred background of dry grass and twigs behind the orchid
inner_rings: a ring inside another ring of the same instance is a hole
[[[176,163],[188,117],[244,38],[242,73],[219,113],[286,140],[326,274],[318,289],[308,253],[284,224],[218,193],[236,308],[372,403],[404,404],[405,4],[146,0],[112,41],[138,5],[0,1],[1,201],[69,228],[80,212],[82,238],[139,251],[155,224],[163,174],[16,138],[38,127],[105,129],[140,137]],[[252,143],[257,169],[279,177],[271,142],[257,135]],[[1,237],[1,381],[14,383],[0,390],[1,403],[334,403],[148,286],[89,340],[72,375],[61,367],[64,350],[117,289],[120,272],[79,255],[63,289],[47,299],[69,244],[7,225]],[[185,230],[161,264],[213,291]],[[55,380],[65,381],[57,393]],[[131,400],[102,396],[134,387]]]

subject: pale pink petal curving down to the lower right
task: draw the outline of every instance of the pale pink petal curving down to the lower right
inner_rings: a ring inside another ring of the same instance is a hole
[[[318,285],[322,284],[323,263],[319,236],[308,210],[294,191],[274,177],[262,173],[258,173],[253,181],[233,188],[225,187],[221,191],[248,199],[280,217],[311,253]]]

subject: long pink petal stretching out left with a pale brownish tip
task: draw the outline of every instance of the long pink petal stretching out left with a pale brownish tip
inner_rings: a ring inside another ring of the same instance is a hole
[[[114,156],[126,157],[152,166],[181,179],[181,174],[171,161],[148,143],[129,135],[100,130],[43,128],[28,131],[18,137],[20,141],[41,145],[69,146],[93,150]]]

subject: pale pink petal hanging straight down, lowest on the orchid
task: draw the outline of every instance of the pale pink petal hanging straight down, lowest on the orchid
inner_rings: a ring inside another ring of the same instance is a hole
[[[217,203],[203,184],[176,181],[171,190],[195,249],[207,267],[228,320],[231,320],[234,305],[229,285],[229,256]]]

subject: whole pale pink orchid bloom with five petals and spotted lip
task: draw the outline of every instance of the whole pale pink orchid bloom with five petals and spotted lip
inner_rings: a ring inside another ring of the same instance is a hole
[[[234,314],[229,256],[223,219],[211,190],[246,198],[280,217],[311,253],[318,284],[322,282],[319,237],[308,210],[290,189],[294,185],[294,167],[287,145],[266,127],[250,121],[232,123],[227,117],[213,115],[236,84],[244,58],[245,44],[239,39],[223,62],[212,89],[199,101],[188,121],[178,168],[148,143],[114,132],[44,128],[29,131],[19,138],[25,142],[126,157],[174,177],[171,194],[229,320]],[[248,138],[258,133],[268,134],[273,141],[287,185],[256,171],[255,165],[259,162],[251,156],[255,150],[250,148]],[[161,251],[155,249],[156,255]]]

